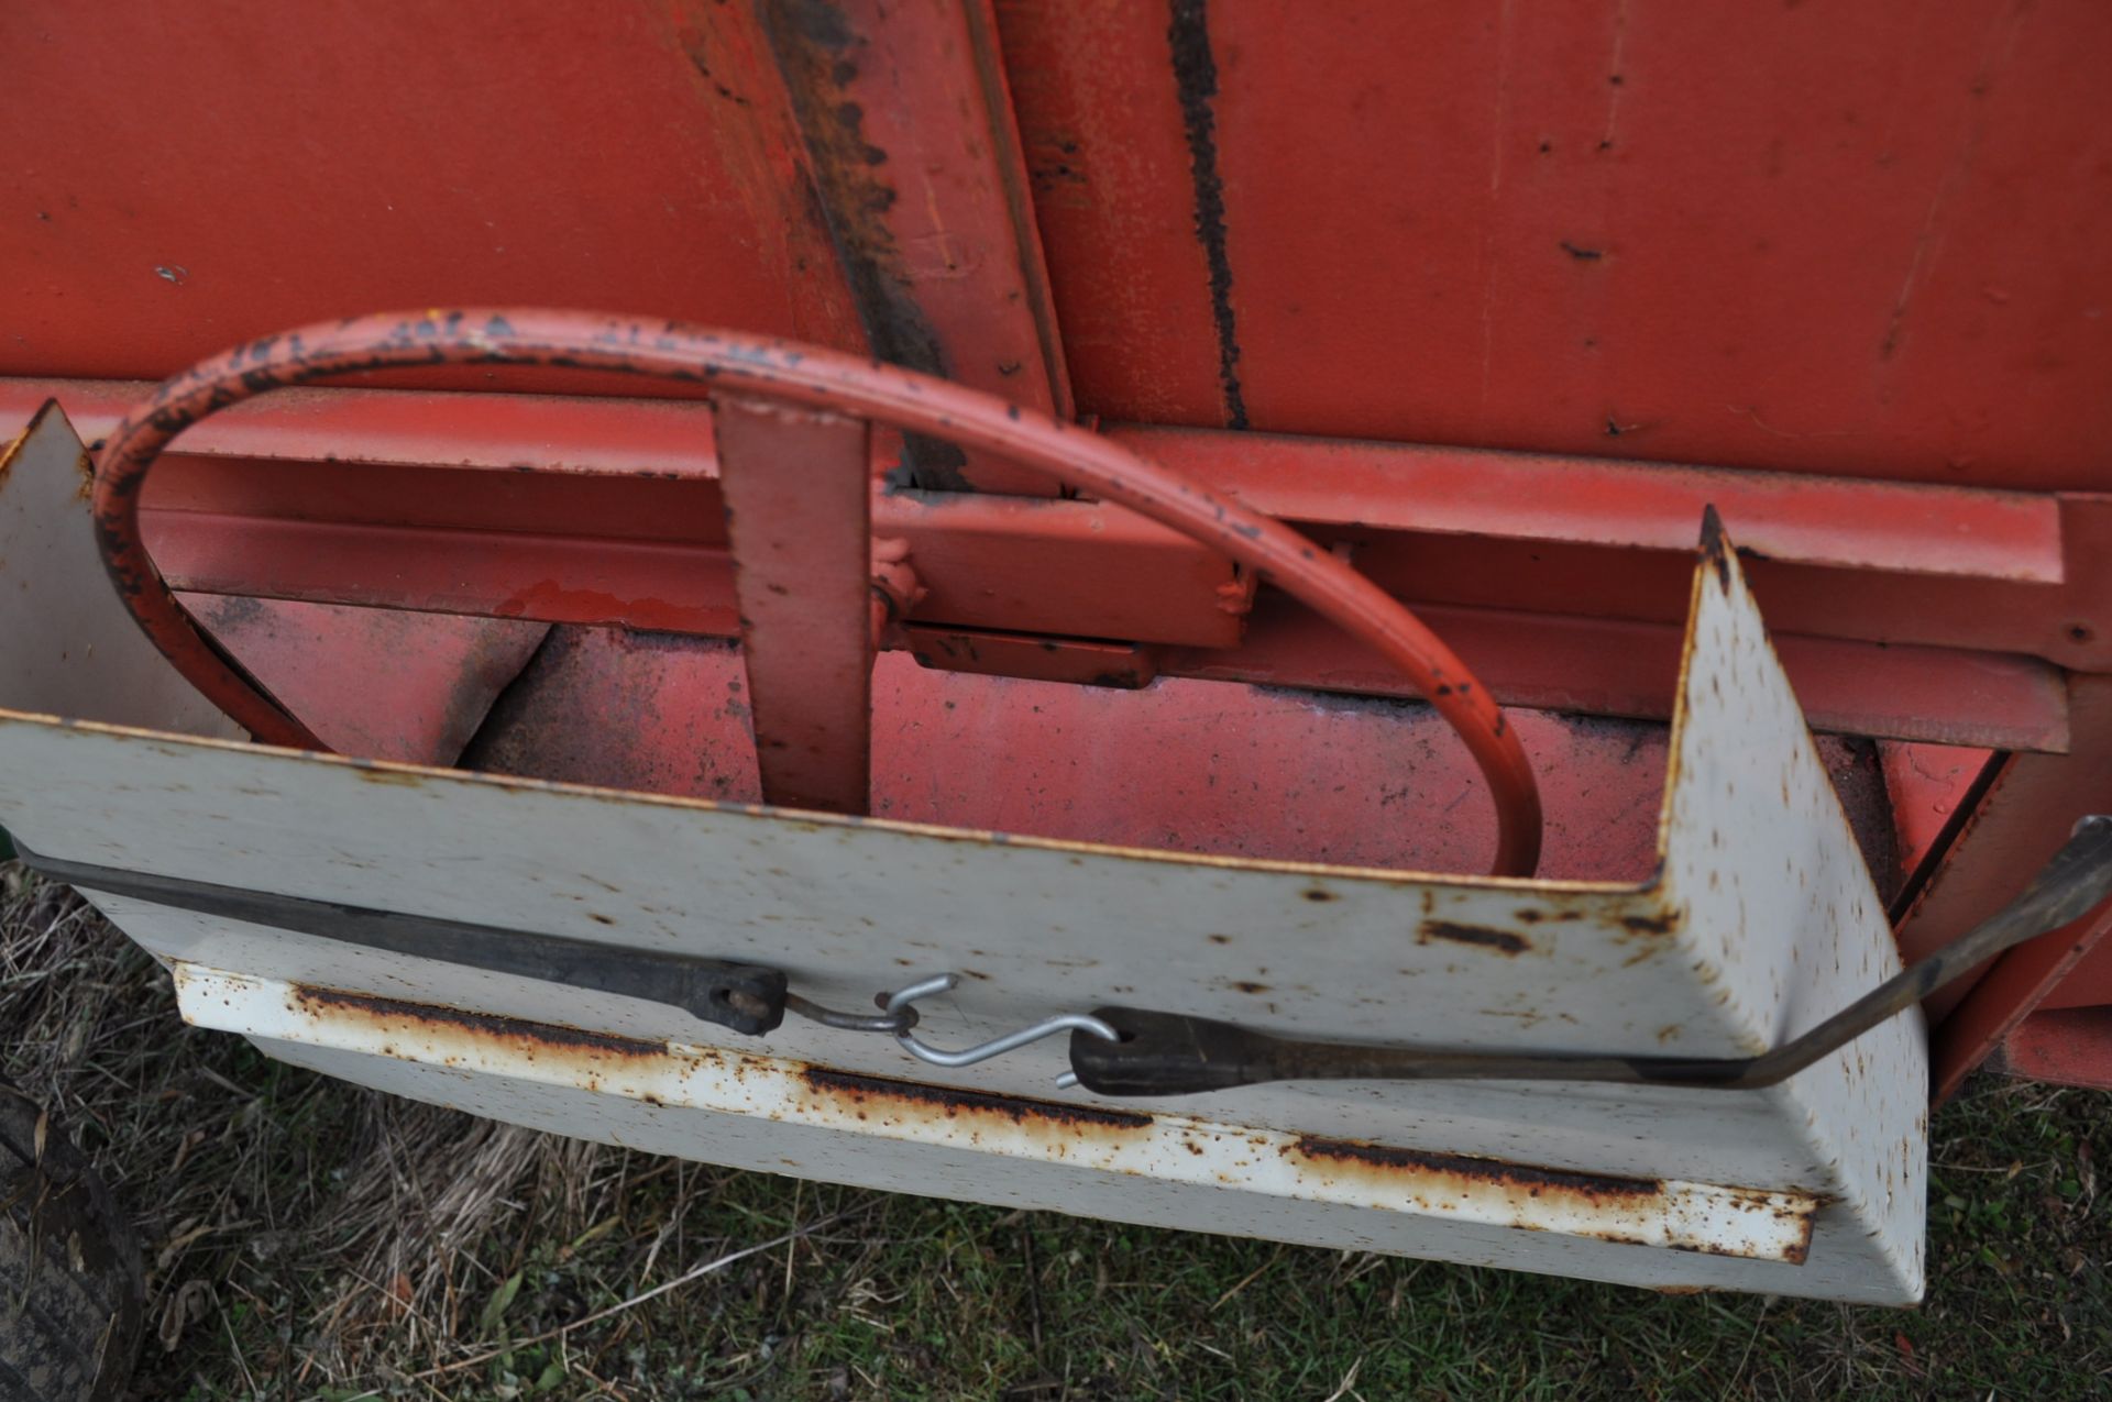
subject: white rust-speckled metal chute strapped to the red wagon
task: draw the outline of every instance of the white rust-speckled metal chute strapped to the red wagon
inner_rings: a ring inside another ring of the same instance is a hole
[[[74,454],[46,416],[0,507],[74,473]],[[0,513],[4,562],[21,541],[6,532],[49,511],[19,519]],[[6,610],[44,606],[46,585],[0,574],[0,646],[15,646]],[[114,598],[108,617],[93,591],[70,608],[70,638],[139,644]],[[122,686],[158,684],[150,648],[122,657]],[[74,690],[0,680],[0,826],[44,857],[771,965],[836,1007],[957,969],[961,988],[921,1005],[944,1045],[1119,1001],[1331,1041],[1736,1058],[1899,971],[1728,551],[1694,579],[1645,885],[1193,857],[296,754],[108,724],[137,722],[108,665]],[[34,714],[53,709],[68,718]],[[1060,1041],[936,1071],[870,1032],[794,1020],[741,1037],[642,999],[87,895],[171,965],[192,1022],[564,1134],[1645,1286],[1922,1290],[1911,1011],[1757,1092],[1297,1083],[1096,1100],[1056,1090]]]

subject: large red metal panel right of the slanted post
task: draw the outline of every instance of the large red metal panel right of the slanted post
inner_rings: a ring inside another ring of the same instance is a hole
[[[2112,484],[2104,6],[1001,17],[1083,410]]]

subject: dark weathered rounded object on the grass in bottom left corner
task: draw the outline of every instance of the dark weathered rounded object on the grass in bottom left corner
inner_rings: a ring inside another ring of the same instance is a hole
[[[139,1235],[65,1134],[0,1081],[0,1398],[114,1402],[146,1318]]]

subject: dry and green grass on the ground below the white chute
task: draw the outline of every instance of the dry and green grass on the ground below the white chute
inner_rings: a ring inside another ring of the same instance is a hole
[[[0,1073],[135,1212],[139,1398],[2093,1398],[2108,1096],[1935,1123],[1928,1303],[1850,1309],[735,1174],[386,1100],[177,1022],[63,889],[0,908]]]

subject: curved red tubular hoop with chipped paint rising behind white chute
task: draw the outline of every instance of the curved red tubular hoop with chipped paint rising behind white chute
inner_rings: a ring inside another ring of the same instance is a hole
[[[1529,874],[1538,864],[1540,798],[1531,764],[1487,686],[1474,684],[1459,659],[1407,608],[1288,526],[1221,500],[1105,437],[944,380],[819,348],[583,312],[431,310],[302,327],[239,346],[169,380],[108,441],[93,507],[112,581],[169,661],[260,739],[317,745],[306,726],[211,648],[169,593],[139,536],[148,469],[190,422],[275,386],[448,363],[667,376],[716,386],[720,395],[849,412],[1007,456],[1073,490],[1189,532],[1400,665],[1459,733],[1489,781],[1497,809],[1495,870]]]

